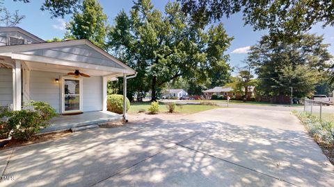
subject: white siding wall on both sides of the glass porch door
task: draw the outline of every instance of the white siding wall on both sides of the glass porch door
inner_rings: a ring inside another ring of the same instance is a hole
[[[64,73],[52,73],[46,71],[31,71],[30,73],[30,98],[31,100],[49,103],[61,113],[61,80]],[[92,76],[82,79],[82,109],[83,112],[102,110],[102,77]]]

